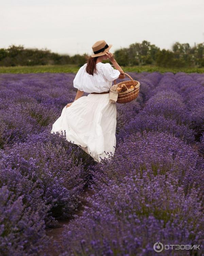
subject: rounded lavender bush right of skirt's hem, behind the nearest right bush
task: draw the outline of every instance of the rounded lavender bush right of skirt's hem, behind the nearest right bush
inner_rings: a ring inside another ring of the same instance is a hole
[[[190,160],[189,160],[190,159]],[[193,148],[167,131],[151,131],[131,134],[118,143],[114,160],[93,167],[93,180],[100,189],[109,179],[117,184],[130,173],[144,173],[151,170],[153,175],[173,173],[175,179],[189,193],[193,184],[204,191],[204,161]]]

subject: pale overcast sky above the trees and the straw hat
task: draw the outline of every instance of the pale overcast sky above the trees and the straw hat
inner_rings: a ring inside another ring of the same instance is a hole
[[[110,52],[143,40],[160,49],[204,42],[204,0],[0,0],[0,48],[23,45],[59,54]]]

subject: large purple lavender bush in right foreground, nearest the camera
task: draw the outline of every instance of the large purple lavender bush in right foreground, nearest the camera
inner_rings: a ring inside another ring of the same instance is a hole
[[[61,256],[156,255],[156,241],[203,243],[204,219],[197,191],[192,189],[185,196],[173,174],[155,177],[147,170],[142,176],[125,176],[119,185],[112,180],[88,202],[83,215],[65,227]],[[190,253],[195,251],[175,255]]]

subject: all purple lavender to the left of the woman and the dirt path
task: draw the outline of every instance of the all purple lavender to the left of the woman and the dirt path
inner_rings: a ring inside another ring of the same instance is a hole
[[[73,218],[89,184],[92,158],[50,133],[64,105],[75,98],[73,78],[0,75],[1,255],[43,253],[51,243],[45,228],[56,226],[59,218]],[[142,98],[140,103],[136,110]],[[126,117],[119,116],[122,126]]]

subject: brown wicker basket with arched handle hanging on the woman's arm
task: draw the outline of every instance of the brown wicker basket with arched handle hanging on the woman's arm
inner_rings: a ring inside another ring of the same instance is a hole
[[[125,84],[127,86],[128,90],[118,93],[118,99],[116,102],[117,103],[127,103],[127,102],[130,102],[137,98],[137,96],[139,94],[140,83],[138,81],[133,80],[132,77],[127,73],[121,72],[121,74],[125,74],[125,75],[129,76],[131,80],[120,82],[117,84],[118,87],[121,87],[122,84]],[[114,80],[114,84],[116,84],[116,80]],[[131,85],[134,86],[132,89],[130,88]]]

